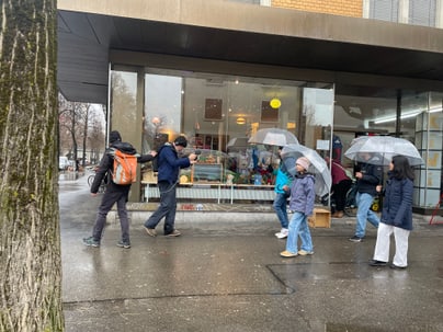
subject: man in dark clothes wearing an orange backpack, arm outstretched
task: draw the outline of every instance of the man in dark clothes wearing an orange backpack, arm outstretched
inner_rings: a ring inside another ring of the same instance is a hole
[[[100,161],[94,182],[91,185],[91,196],[96,196],[100,184],[107,174],[106,191],[96,213],[92,237],[83,239],[86,245],[100,247],[107,213],[116,203],[122,227],[122,239],[117,242],[117,245],[125,249],[130,248],[126,202],[130,184],[136,180],[134,162],[143,163],[154,160],[156,154],[156,151],[151,151],[148,154],[139,156],[130,144],[122,141],[122,136],[117,130],[110,133],[110,147]]]

